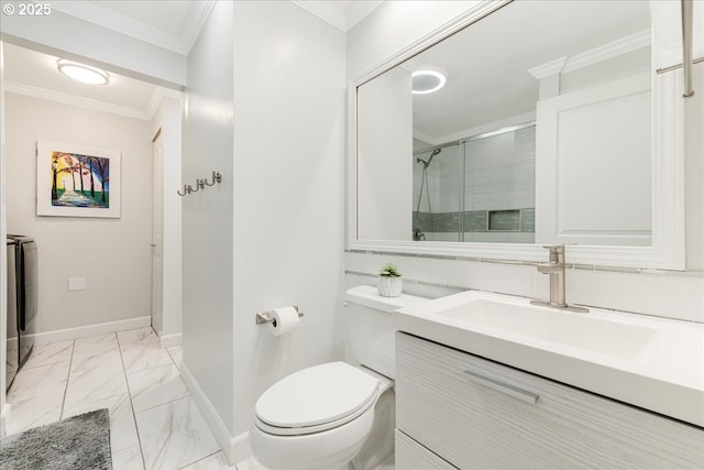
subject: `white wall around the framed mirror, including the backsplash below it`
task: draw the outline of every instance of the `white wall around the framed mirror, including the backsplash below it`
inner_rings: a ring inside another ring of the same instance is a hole
[[[420,3],[424,3],[422,8]],[[452,3],[452,4],[448,4]],[[386,2],[348,33],[348,78],[354,80],[400,48],[436,31],[475,2]],[[701,66],[698,66],[701,68]],[[695,75],[696,95],[685,103],[685,174],[688,222],[688,272],[628,272],[570,270],[568,300],[618,308],[649,315],[704,321],[704,281],[702,276],[702,214],[704,175],[702,174],[701,70]],[[547,259],[547,255],[546,255]],[[438,296],[449,291],[479,288],[546,298],[547,276],[534,266],[479,263],[431,258],[348,253],[348,285],[373,284],[372,277],[385,262],[397,262],[407,291]],[[569,262],[569,250],[568,250]],[[364,273],[367,275],[356,275]],[[450,286],[450,287],[448,287]]]

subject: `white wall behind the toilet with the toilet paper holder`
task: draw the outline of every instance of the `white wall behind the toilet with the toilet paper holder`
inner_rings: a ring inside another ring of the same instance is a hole
[[[344,34],[279,1],[234,3],[235,434],[295,370],[342,358]],[[257,311],[298,305],[288,337]]]

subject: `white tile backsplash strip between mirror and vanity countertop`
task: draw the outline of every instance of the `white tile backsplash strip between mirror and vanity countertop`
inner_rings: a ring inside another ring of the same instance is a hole
[[[348,286],[375,284],[382,264],[404,274],[404,292],[430,298],[465,289],[547,299],[549,278],[531,262],[452,259],[365,251],[345,252]],[[573,265],[566,270],[571,304],[704,323],[704,275],[646,269]]]

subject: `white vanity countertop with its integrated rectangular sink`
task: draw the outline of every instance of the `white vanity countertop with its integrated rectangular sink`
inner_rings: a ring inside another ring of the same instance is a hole
[[[504,315],[507,314],[507,315]],[[396,329],[704,427],[704,325],[466,291],[394,313]]]

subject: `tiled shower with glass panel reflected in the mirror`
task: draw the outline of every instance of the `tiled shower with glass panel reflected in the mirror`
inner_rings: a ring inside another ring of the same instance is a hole
[[[414,228],[422,230],[426,240],[458,241],[462,227],[464,241],[532,243],[536,128],[464,145],[465,162],[459,144],[442,149],[432,160],[419,211],[416,209],[424,164],[414,160]],[[428,152],[414,159],[427,161],[429,156]],[[430,207],[426,189],[430,193]]]

